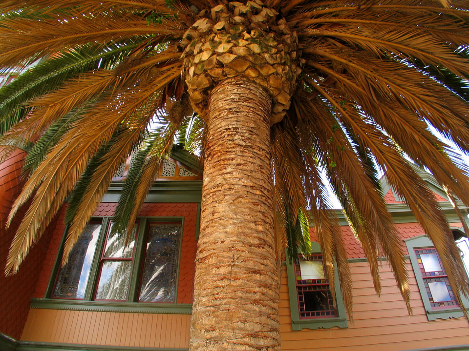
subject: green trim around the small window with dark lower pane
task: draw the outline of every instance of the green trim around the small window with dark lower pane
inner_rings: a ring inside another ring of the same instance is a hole
[[[317,242],[311,242],[311,253],[320,253],[321,247]],[[338,317],[333,318],[312,318],[312,319],[300,319],[298,312],[298,298],[297,298],[297,286],[295,283],[295,271],[293,263],[287,260],[287,278],[288,278],[288,294],[290,296],[290,312],[292,317],[292,329],[294,331],[300,331],[304,328],[307,329],[329,329],[332,327],[347,328],[347,315],[345,313],[345,306],[343,304],[339,275],[337,269],[334,270],[335,280],[335,291],[336,291],[336,305]]]

